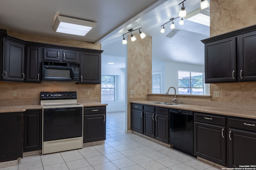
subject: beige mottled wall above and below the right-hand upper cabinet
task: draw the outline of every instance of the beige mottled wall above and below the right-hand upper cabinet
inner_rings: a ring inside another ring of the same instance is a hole
[[[210,36],[255,25],[255,0],[210,0]],[[256,82],[216,83],[210,94],[220,91],[213,101],[256,103]]]

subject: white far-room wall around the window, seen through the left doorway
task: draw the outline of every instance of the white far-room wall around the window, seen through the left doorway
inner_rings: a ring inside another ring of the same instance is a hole
[[[102,102],[107,103],[106,112],[119,112],[125,111],[125,68],[111,68],[108,66],[102,66],[102,75],[115,76],[116,87],[116,101],[115,102]]]

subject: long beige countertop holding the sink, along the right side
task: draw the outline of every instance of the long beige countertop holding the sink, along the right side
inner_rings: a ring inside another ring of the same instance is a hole
[[[145,105],[168,107],[168,108],[174,108],[174,109],[198,111],[198,112],[203,112],[203,113],[214,113],[214,114],[218,114],[218,115],[228,115],[228,116],[256,119],[256,111],[254,111],[254,110],[232,109],[232,108],[228,108],[228,107],[227,108],[226,107],[208,107],[208,106],[197,106],[197,105],[188,105],[188,104],[163,105],[163,104],[153,104],[151,102],[156,102],[156,101],[148,101],[148,100],[130,101],[130,103],[136,103],[136,104],[145,104]]]

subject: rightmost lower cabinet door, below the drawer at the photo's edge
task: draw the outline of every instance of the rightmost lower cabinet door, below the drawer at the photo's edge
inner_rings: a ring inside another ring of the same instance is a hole
[[[256,133],[238,129],[229,129],[229,138],[227,141],[229,144],[229,167],[255,165]]]

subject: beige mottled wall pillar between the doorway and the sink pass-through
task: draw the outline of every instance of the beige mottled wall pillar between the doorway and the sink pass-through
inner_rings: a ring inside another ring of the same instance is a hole
[[[151,93],[152,79],[152,37],[140,38],[134,34],[136,41],[132,42],[130,36],[127,38],[127,125],[130,130],[130,97],[146,97]],[[141,78],[141,82],[139,82]],[[134,95],[130,95],[134,90]],[[140,94],[142,90],[142,94]]]

